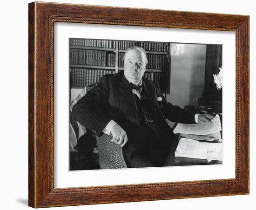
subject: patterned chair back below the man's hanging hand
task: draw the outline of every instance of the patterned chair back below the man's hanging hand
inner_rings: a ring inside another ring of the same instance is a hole
[[[101,169],[127,168],[121,144],[111,142],[112,137],[103,134],[96,137],[99,151],[99,163]]]

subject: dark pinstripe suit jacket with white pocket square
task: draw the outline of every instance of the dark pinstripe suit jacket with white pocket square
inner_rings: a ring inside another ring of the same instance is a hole
[[[142,86],[152,107],[154,125],[161,130],[163,148],[168,148],[174,133],[164,117],[174,122],[195,123],[194,113],[185,112],[179,106],[168,103],[153,81],[143,77]],[[157,101],[160,97],[162,101]],[[97,136],[102,134],[111,119],[115,120],[128,136],[128,144],[124,147],[129,153],[128,161],[133,151],[141,149],[138,144],[141,125],[135,97],[122,72],[101,77],[98,85],[74,105],[72,114]]]

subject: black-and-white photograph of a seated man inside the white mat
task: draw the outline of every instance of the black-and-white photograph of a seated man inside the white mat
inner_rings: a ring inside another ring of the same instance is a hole
[[[69,170],[222,164],[222,45],[69,38]]]

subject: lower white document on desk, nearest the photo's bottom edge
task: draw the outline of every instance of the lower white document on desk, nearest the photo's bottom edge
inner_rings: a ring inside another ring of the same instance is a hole
[[[181,138],[175,151],[175,157],[222,161],[222,142],[199,142],[193,139]]]

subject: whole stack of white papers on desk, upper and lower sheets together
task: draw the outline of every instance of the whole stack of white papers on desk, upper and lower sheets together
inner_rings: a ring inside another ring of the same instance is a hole
[[[182,138],[176,148],[175,157],[222,161],[221,130],[221,121],[218,115],[211,123],[179,123],[174,129],[174,133],[180,133]]]

